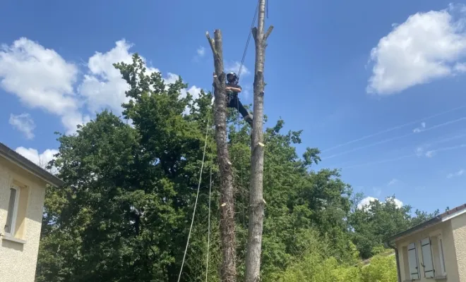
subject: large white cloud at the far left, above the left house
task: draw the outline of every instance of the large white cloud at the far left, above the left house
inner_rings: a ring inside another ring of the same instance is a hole
[[[20,102],[68,120],[76,116],[80,102],[73,91],[78,68],[56,51],[21,37],[0,49],[0,86]],[[65,124],[68,133],[76,124]]]

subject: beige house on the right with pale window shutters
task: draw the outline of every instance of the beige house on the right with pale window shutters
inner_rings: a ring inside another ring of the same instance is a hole
[[[466,282],[466,204],[390,238],[398,281]]]

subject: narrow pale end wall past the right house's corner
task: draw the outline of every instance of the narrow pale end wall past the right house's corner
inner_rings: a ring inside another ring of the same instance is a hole
[[[458,262],[459,281],[466,282],[466,214],[453,218],[451,227]]]

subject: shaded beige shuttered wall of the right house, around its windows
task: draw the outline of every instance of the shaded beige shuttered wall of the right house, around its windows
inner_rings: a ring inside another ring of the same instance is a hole
[[[420,271],[421,278],[416,281],[420,281],[420,282],[434,281],[432,278],[424,277],[424,272],[422,271],[422,266],[420,265],[420,263],[422,262],[422,252],[421,252],[421,246],[419,244],[419,241],[424,238],[436,236],[438,234],[441,234],[442,240],[443,240],[443,257],[445,260],[445,267],[446,267],[446,273],[447,273],[447,279],[443,279],[441,281],[466,282],[466,280],[460,280],[459,274],[458,274],[457,255],[456,255],[456,250],[455,250],[455,242],[453,240],[453,229],[452,229],[451,221],[438,223],[422,231],[418,231],[417,233],[408,235],[405,238],[402,238],[396,242],[396,245],[400,252],[399,259],[400,259],[400,272],[401,272],[402,281],[411,281],[408,276],[409,269],[407,269],[408,268],[407,253],[406,253],[407,250],[405,250],[407,249],[407,245],[409,245],[410,243],[416,243],[417,260],[419,262],[419,269],[421,270]],[[434,269],[436,270],[436,276],[439,276],[441,275],[440,274],[441,269],[439,265],[440,262],[436,261],[436,256],[438,255],[438,245],[436,243],[436,240],[432,241],[432,253],[434,255]]]

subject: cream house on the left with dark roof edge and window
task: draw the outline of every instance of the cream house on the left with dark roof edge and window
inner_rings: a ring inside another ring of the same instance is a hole
[[[35,280],[47,184],[63,182],[0,143],[0,281]]]

